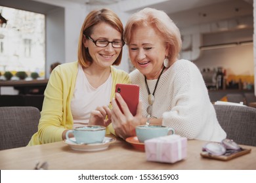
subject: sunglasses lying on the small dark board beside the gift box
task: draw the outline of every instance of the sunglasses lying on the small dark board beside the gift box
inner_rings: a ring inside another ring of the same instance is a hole
[[[221,142],[208,142],[203,146],[203,151],[209,152],[215,156],[228,156],[241,150],[242,148],[230,139],[223,139]]]

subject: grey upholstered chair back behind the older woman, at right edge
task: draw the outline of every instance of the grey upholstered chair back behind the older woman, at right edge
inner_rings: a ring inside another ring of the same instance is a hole
[[[213,105],[226,138],[238,144],[256,146],[256,108]]]

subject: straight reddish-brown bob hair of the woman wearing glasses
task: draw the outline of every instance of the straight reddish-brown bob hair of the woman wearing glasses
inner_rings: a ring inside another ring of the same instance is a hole
[[[102,22],[112,25],[112,27],[114,27],[117,31],[121,33],[121,35],[123,35],[123,24],[112,10],[102,8],[101,10],[91,11],[83,22],[78,42],[77,57],[78,62],[80,63],[80,65],[82,65],[82,67],[89,67],[93,62],[93,59],[89,54],[88,48],[85,48],[85,46],[83,46],[83,35],[90,36],[93,33],[93,28],[95,27],[95,25]],[[121,48],[121,52],[117,57],[116,61],[114,61],[113,65],[119,65],[121,63],[122,52],[123,48]]]

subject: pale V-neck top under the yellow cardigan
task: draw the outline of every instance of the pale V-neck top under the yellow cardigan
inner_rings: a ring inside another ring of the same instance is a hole
[[[83,73],[81,65],[79,65],[74,95],[71,100],[71,112],[74,120],[73,127],[88,124],[91,110],[104,105],[108,106],[110,104],[111,89],[111,74],[104,84],[98,88],[93,88],[87,80],[85,73]]]

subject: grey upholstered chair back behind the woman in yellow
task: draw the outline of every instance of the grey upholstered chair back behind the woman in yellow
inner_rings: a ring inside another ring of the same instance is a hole
[[[35,107],[0,107],[0,150],[26,146],[40,116]]]

